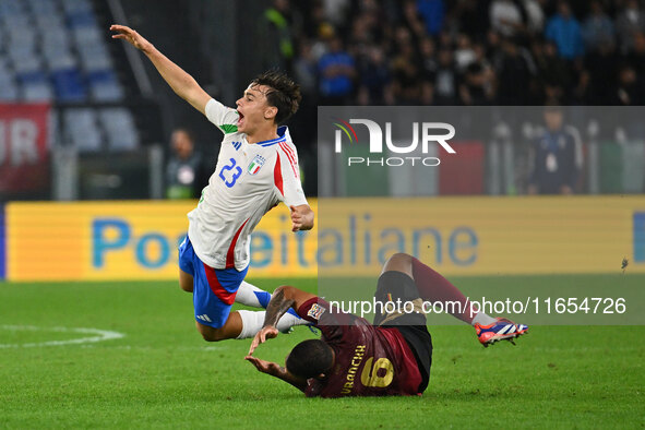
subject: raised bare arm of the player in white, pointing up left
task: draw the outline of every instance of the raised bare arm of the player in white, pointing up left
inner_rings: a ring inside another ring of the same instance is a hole
[[[114,39],[123,39],[145,53],[172,91],[200,112],[205,114],[206,103],[208,103],[211,96],[202,89],[190,74],[159,52],[153,44],[134,29],[126,25],[115,24],[110,26],[110,31],[117,32],[117,34],[112,35]]]

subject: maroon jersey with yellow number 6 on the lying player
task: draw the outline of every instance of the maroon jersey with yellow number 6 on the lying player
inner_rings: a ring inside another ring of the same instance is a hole
[[[398,330],[373,326],[319,297],[304,302],[298,314],[320,329],[336,355],[324,381],[307,381],[308,397],[420,394],[417,360]]]

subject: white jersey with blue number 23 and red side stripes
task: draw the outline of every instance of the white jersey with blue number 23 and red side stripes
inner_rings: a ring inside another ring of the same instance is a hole
[[[205,110],[224,140],[215,172],[188,214],[188,236],[205,264],[242,271],[250,259],[249,236],[262,216],[279,202],[307,204],[298,153],[286,127],[277,129],[277,139],[250,144],[237,131],[235,109],[211,99]]]

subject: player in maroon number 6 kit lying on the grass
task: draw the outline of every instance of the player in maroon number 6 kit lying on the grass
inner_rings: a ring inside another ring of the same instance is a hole
[[[382,306],[375,307],[370,324],[312,294],[279,287],[246,359],[259,371],[290,383],[310,397],[420,395],[428,386],[432,363],[432,339],[422,301],[458,302],[453,315],[471,324],[485,346],[512,342],[528,330],[527,325],[476,312],[446,278],[404,253],[385,262],[374,300]],[[387,301],[411,302],[415,311],[399,312],[396,307],[384,306]],[[322,338],[296,345],[285,367],[253,357],[258,345],[277,336],[275,324],[289,309],[320,329]]]

